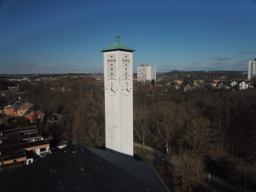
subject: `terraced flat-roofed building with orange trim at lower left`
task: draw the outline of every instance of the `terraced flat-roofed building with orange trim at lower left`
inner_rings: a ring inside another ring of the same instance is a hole
[[[18,168],[50,153],[37,127],[0,131],[0,170]]]

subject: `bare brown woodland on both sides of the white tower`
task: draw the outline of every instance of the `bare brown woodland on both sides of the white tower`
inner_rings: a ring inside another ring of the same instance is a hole
[[[58,87],[65,91],[54,91]],[[23,83],[20,89],[31,90],[21,97],[46,116],[63,116],[58,125],[38,124],[41,130],[70,143],[104,148],[103,83],[65,78]],[[6,100],[1,98],[0,105]],[[173,158],[173,165],[154,164],[169,189],[191,190],[205,182],[208,172],[243,189],[256,189],[255,119],[254,89],[183,92],[134,83],[134,140]]]

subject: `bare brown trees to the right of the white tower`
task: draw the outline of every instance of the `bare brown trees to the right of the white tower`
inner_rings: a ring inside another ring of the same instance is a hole
[[[135,137],[176,157],[173,181],[180,190],[191,190],[206,172],[255,189],[255,90],[137,89]]]

